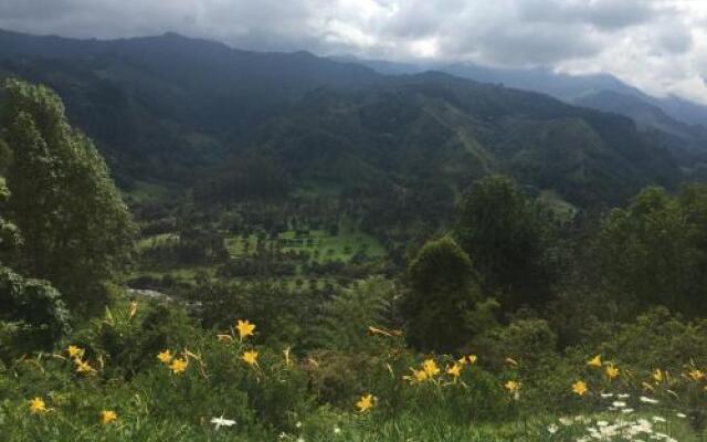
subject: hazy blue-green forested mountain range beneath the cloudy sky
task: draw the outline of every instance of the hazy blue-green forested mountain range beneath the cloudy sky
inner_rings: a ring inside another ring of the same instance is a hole
[[[549,73],[523,83],[510,81],[519,73],[383,64],[173,33],[99,41],[0,32],[0,76],[57,91],[128,191],[169,182],[239,199],[275,182],[285,192],[454,193],[505,172],[581,206],[701,173],[698,105],[658,105],[609,76],[562,85],[545,81]]]

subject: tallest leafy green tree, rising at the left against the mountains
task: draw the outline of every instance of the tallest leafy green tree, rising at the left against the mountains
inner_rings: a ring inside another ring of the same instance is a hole
[[[17,270],[49,280],[70,305],[91,303],[128,256],[130,214],[93,143],[66,119],[51,90],[4,83],[0,127],[13,152],[10,219],[24,239]]]

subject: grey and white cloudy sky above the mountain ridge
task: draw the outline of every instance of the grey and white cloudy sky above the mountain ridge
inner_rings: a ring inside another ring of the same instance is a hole
[[[0,28],[608,72],[707,103],[705,0],[0,0]]]

